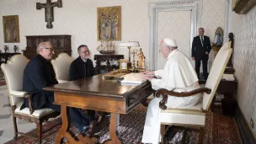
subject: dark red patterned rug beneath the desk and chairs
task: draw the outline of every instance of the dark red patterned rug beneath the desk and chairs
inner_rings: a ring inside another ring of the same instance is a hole
[[[139,104],[135,109],[127,115],[120,115],[120,126],[117,131],[122,143],[125,144],[141,144],[143,125],[145,122],[147,108]],[[46,123],[43,129],[47,129],[56,122],[61,121],[61,118]],[[232,117],[221,114],[221,109],[215,109],[215,112],[209,112],[206,115],[204,132],[204,143],[206,144],[237,144],[241,143],[240,135],[237,132],[237,125]],[[42,143],[55,143],[56,132],[61,128],[61,125],[56,126],[51,131],[48,131],[42,136]],[[71,130],[77,133],[77,129],[72,125]],[[188,143],[195,144],[198,141],[199,128],[168,128],[168,136],[165,139],[166,143]],[[170,131],[170,130],[174,130]],[[109,139],[109,119],[104,120],[103,129],[99,133],[99,143]],[[186,131],[184,133],[184,131]],[[36,136],[36,130],[29,131],[29,135]],[[8,144],[35,144],[35,139],[24,136],[19,136],[17,141],[8,141]]]

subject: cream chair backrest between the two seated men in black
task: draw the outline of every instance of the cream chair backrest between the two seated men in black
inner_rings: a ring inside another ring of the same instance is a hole
[[[55,60],[51,60],[57,80],[69,81],[69,67],[72,61],[74,58],[67,53],[60,53]]]

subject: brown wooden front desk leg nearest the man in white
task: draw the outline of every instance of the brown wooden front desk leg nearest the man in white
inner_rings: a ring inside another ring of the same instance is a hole
[[[111,113],[111,120],[109,125],[109,133],[111,141],[106,141],[104,144],[120,144],[121,141],[116,136],[116,127],[117,127],[117,120],[119,119],[119,114]]]

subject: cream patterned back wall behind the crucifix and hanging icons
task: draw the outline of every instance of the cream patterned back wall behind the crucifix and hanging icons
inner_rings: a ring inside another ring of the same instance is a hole
[[[13,45],[19,45],[19,51],[24,49],[25,35],[72,35],[72,56],[77,57],[77,46],[81,44],[88,45],[93,55],[99,54],[95,49],[100,44],[97,40],[97,8],[121,6],[121,40],[138,40],[148,58],[148,3],[168,1],[170,0],[62,0],[62,8],[54,8],[53,29],[46,29],[45,10],[35,8],[35,3],[45,3],[45,0],[1,0],[0,50],[3,51],[3,45],[9,45],[10,51],[13,51]],[[216,27],[224,25],[225,0],[202,1],[203,13],[200,24],[205,27],[205,35],[213,39]],[[3,42],[3,15],[19,15],[20,43]],[[124,49],[116,49],[116,54],[123,54],[128,59],[128,51]]]

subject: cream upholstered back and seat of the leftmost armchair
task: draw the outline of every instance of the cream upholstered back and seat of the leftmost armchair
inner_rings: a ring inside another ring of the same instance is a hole
[[[40,118],[40,116],[50,114],[54,112],[52,109],[38,109],[35,110],[32,115],[30,115],[29,108],[20,110],[20,106],[24,103],[24,95],[27,92],[22,91],[23,89],[23,75],[24,68],[27,66],[29,60],[23,55],[12,56],[11,60],[7,64],[2,64],[1,69],[3,71],[5,81],[8,88],[8,97],[10,104],[16,105],[14,110],[15,114],[27,115],[35,118]]]

